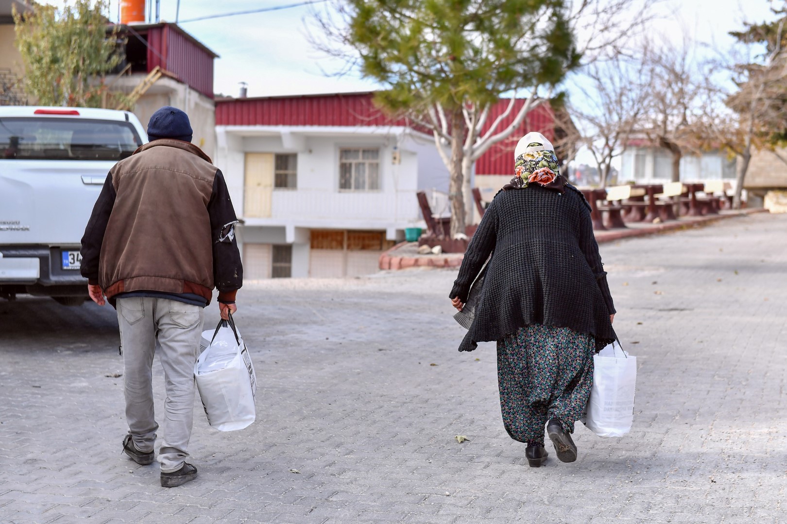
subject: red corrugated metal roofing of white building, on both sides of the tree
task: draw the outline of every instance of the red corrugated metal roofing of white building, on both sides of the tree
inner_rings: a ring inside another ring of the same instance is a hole
[[[374,93],[331,93],[286,97],[224,98],[216,100],[217,126],[410,126],[408,119],[390,119],[372,102]],[[510,99],[493,106],[485,126],[489,129],[497,116],[508,108]],[[510,125],[525,103],[515,102],[514,109],[497,127]],[[530,111],[511,137],[493,145],[475,163],[476,174],[510,174],[514,148],[519,138],[538,131],[549,140],[555,137],[555,120],[549,104]]]

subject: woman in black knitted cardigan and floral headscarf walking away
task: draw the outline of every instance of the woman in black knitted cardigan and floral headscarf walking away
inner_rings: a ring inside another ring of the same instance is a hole
[[[503,423],[527,443],[531,467],[547,459],[545,424],[557,458],[577,459],[571,433],[593,384],[593,353],[615,339],[590,207],[560,176],[553,149],[539,133],[519,141],[515,177],[486,209],[450,294],[461,311],[489,259],[459,350],[497,340]]]

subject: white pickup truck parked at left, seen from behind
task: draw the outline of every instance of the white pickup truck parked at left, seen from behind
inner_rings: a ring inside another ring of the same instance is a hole
[[[79,240],[109,169],[146,141],[127,111],[0,107],[0,299],[87,299]]]

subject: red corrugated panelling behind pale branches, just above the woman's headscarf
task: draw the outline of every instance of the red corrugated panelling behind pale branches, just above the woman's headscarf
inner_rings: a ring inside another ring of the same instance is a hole
[[[490,111],[489,119],[486,120],[484,131],[492,126],[497,116],[505,112],[506,108],[508,108],[508,102],[509,100],[501,100],[493,106]],[[510,125],[514,121],[516,112],[524,103],[524,100],[516,101],[511,114],[501,121],[497,126],[497,130],[503,130],[506,126]],[[543,134],[550,141],[554,140],[555,120],[552,115],[552,108],[550,108],[548,104],[541,104],[538,108],[530,111],[525,117],[524,122],[510,137],[493,145],[484,153],[475,163],[475,174],[512,174],[513,176],[514,149],[516,143],[519,141],[519,138],[530,133],[530,131],[538,131],[538,133]]]

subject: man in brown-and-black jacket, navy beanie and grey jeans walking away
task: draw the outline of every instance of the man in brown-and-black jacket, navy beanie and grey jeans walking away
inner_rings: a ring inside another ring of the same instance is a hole
[[[137,464],[155,460],[151,367],[161,348],[167,398],[158,461],[161,486],[172,487],[197,477],[186,459],[203,308],[215,286],[221,317],[235,312],[242,266],[224,175],[190,143],[186,113],[159,109],[148,135],[149,143],[109,171],[82,238],[82,275],[91,299],[103,306],[106,295],[117,310],[128,422],[123,450]]]

